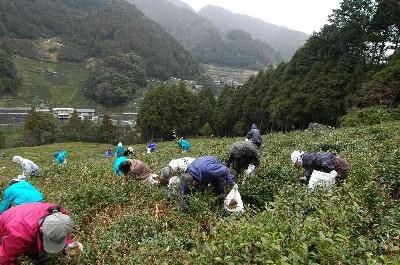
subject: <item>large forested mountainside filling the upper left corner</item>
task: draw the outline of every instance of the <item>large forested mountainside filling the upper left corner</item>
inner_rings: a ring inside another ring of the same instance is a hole
[[[83,61],[135,52],[148,76],[194,77],[196,60],[165,30],[123,0],[1,0],[0,47],[30,58]],[[55,45],[45,52],[43,39]]]

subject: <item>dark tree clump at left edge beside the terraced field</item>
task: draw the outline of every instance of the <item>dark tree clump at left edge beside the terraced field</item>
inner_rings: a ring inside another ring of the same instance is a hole
[[[18,85],[19,79],[13,57],[0,49],[0,95],[15,92]]]

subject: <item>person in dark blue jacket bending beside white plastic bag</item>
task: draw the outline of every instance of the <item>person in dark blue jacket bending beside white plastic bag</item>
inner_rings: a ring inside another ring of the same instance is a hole
[[[233,186],[234,189],[238,188],[231,171],[214,156],[196,158],[189,165],[182,175],[182,184],[179,190],[181,199],[185,199],[194,181],[196,181],[197,186],[201,189],[207,188],[208,184],[211,183],[214,191],[219,195],[225,193],[225,181],[230,186]]]

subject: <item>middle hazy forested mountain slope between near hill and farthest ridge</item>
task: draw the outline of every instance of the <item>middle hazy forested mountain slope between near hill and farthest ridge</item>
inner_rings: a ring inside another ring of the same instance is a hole
[[[277,65],[283,57],[266,42],[253,40],[232,29],[220,32],[208,19],[167,0],[128,0],[179,40],[203,63],[263,69]]]

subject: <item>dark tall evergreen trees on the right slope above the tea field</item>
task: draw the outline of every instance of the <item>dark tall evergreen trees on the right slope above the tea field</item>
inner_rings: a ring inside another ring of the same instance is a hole
[[[264,131],[310,122],[336,126],[357,106],[397,106],[400,3],[344,0],[329,21],[290,62],[261,71],[243,87],[225,87],[214,130],[231,135],[254,122]]]

